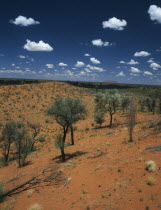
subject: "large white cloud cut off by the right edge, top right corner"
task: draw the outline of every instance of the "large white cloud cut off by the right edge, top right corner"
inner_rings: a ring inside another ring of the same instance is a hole
[[[161,8],[156,5],[151,5],[149,7],[148,13],[150,15],[150,19],[161,23]]]

